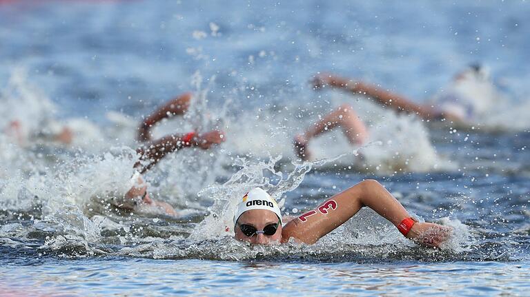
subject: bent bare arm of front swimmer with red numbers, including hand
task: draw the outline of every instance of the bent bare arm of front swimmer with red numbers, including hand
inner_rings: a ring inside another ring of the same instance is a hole
[[[282,241],[293,237],[312,244],[353,217],[361,207],[370,207],[398,227],[410,218],[406,209],[377,181],[365,180],[336,194],[316,209],[298,216],[282,229]],[[438,247],[449,236],[451,229],[433,223],[413,223],[407,238]]]

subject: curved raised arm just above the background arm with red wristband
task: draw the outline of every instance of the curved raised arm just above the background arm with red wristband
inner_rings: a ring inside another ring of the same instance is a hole
[[[168,101],[168,103],[153,112],[153,114],[150,114],[143,122],[141,122],[140,127],[138,128],[138,140],[150,141],[150,129],[153,125],[170,116],[184,114],[184,112],[190,107],[191,96],[191,93],[181,94],[177,98]]]

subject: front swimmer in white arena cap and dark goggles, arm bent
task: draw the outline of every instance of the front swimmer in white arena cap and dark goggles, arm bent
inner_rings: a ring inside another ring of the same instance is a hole
[[[257,187],[237,205],[235,238],[252,244],[287,243],[294,238],[295,242],[311,245],[355,216],[364,206],[386,218],[406,238],[420,245],[440,247],[452,232],[450,227],[416,221],[380,183],[365,180],[288,222],[282,220],[274,198]]]

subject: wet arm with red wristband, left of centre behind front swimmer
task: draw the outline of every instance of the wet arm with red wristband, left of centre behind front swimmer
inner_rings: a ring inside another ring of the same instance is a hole
[[[161,158],[183,147],[200,147],[203,150],[208,150],[212,145],[222,143],[224,140],[224,132],[218,130],[204,134],[191,132],[185,135],[168,135],[145,147],[139,147],[136,151],[141,155],[140,162],[136,163],[135,167],[139,167],[140,173],[144,173],[155,166]],[[142,161],[148,161],[148,164],[143,165]]]

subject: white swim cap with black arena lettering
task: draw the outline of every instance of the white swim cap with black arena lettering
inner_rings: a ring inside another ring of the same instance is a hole
[[[239,216],[251,209],[270,210],[278,216],[279,223],[280,225],[282,224],[282,212],[279,211],[278,203],[260,187],[256,187],[251,192],[246,193],[242,201],[239,201],[237,209],[235,209],[234,225],[237,223]]]

